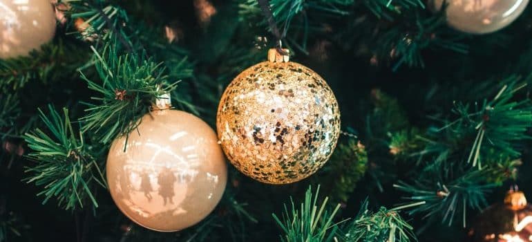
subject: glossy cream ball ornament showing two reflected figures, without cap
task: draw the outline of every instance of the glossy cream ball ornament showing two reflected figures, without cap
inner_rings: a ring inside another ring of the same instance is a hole
[[[151,230],[190,227],[212,212],[227,181],[216,133],[176,110],[144,115],[138,129],[113,141],[107,182],[116,205]]]

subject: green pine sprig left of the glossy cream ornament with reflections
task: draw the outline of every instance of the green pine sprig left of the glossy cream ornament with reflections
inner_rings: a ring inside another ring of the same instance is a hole
[[[68,109],[63,109],[62,117],[52,106],[48,109],[49,115],[39,110],[48,132],[35,129],[24,137],[33,150],[28,158],[35,161],[26,169],[30,175],[26,182],[42,187],[37,195],[45,197],[43,203],[55,198],[66,210],[98,207],[91,187],[106,187],[106,182],[94,151],[86,145],[83,133],[74,131]]]

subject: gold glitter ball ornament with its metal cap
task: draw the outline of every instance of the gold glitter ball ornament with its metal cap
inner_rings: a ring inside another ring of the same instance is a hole
[[[336,147],[338,102],[310,68],[275,49],[268,59],[225,89],[216,118],[218,138],[231,163],[247,176],[294,183],[323,167]]]

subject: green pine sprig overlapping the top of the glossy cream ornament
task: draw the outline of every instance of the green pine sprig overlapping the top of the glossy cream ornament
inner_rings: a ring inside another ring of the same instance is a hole
[[[117,47],[107,44],[101,52],[94,51],[95,68],[101,82],[89,80],[88,88],[99,93],[95,103],[87,104],[84,131],[93,131],[99,140],[111,142],[125,136],[140,124],[157,97],[171,91],[162,64],[146,58],[143,53],[120,54]]]

